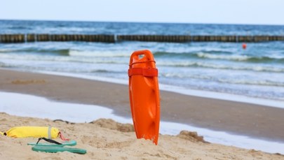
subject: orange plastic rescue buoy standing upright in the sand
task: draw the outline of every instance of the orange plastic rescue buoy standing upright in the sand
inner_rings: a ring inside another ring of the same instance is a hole
[[[137,138],[158,144],[160,96],[158,69],[149,50],[138,50],[130,57],[129,98]]]

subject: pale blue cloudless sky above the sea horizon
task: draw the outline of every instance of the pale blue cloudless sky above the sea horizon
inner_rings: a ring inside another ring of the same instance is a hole
[[[284,0],[0,0],[0,6],[0,20],[284,25]]]

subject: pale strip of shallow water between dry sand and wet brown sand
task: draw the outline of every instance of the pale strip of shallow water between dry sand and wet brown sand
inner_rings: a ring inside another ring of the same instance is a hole
[[[100,118],[114,119],[116,122],[131,123],[131,118],[119,117],[113,114],[113,110],[102,106],[83,105],[76,103],[60,103],[48,101],[39,96],[27,94],[16,94],[0,92],[1,103],[0,112],[6,112],[10,115],[23,117],[39,117],[48,119],[63,119],[69,122],[91,122]],[[15,101],[17,99],[17,101]],[[19,101],[20,106],[19,106]],[[54,112],[56,110],[56,112]],[[129,115],[131,116],[131,115]],[[233,145],[246,149],[262,150],[264,152],[284,154],[283,142],[272,142],[259,140],[247,136],[239,136],[224,131],[212,131],[210,129],[198,128],[186,124],[177,124],[173,122],[161,122],[160,133],[177,135],[182,130],[197,131],[205,140],[210,143],[219,143],[223,145]]]

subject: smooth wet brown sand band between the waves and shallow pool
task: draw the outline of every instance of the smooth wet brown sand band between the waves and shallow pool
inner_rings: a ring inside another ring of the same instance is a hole
[[[0,75],[3,92],[105,106],[117,115],[131,116],[126,85],[1,68]],[[161,91],[161,120],[214,131],[284,142],[283,114],[281,108]]]

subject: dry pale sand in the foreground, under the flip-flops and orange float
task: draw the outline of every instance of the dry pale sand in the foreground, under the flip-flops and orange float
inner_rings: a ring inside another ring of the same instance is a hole
[[[77,141],[74,147],[87,150],[87,154],[34,152],[27,143],[36,142],[36,138],[0,136],[0,159],[284,159],[280,154],[204,143],[187,131],[177,136],[160,135],[158,145],[154,145],[150,140],[137,140],[132,124],[119,124],[111,119],[67,124],[3,112],[0,117],[1,131],[13,126],[54,126],[65,137]]]

